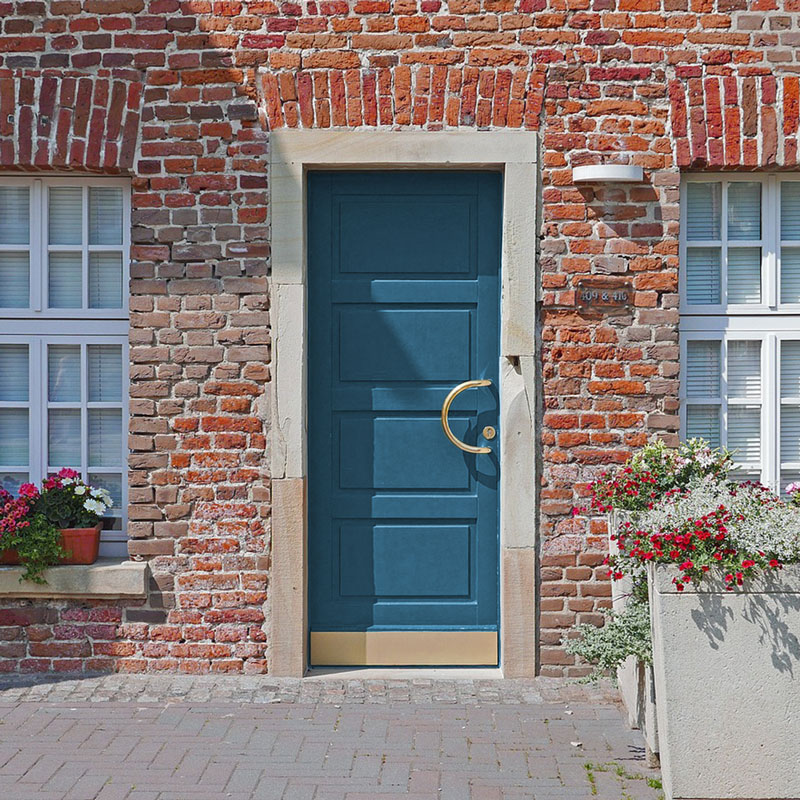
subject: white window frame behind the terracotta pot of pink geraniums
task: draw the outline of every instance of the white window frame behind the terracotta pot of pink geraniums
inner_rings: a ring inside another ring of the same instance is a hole
[[[92,468],[89,470],[88,439],[82,436],[81,470],[83,478],[92,473],[120,473],[122,475],[122,502],[114,509],[114,516],[121,517],[120,530],[104,530],[100,555],[124,557],[127,555],[128,522],[128,420],[129,414],[129,369],[130,364],[128,330],[129,309],[126,290],[130,280],[131,246],[131,182],[127,178],[104,177],[46,177],[25,178],[17,175],[0,175],[0,185],[30,187],[30,243],[27,245],[1,245],[4,251],[22,251],[30,254],[30,307],[0,308],[0,343],[27,344],[29,363],[29,465],[25,469],[30,480],[39,483],[47,476],[47,345],[80,344],[82,383],[86,382],[86,345],[113,344],[122,348],[122,399],[121,403],[89,403],[86,386],[82,386],[81,407],[82,430],[86,431],[86,415],[90,407],[113,406],[122,408],[121,468],[119,470]],[[53,186],[80,186],[83,190],[83,235],[82,245],[49,245],[47,242],[47,192]],[[121,245],[89,245],[88,240],[88,191],[90,187],[119,186],[123,188],[123,219]],[[83,308],[48,309],[48,275],[45,268],[48,252],[69,250],[82,252],[83,263]],[[121,308],[90,309],[88,306],[88,254],[90,252],[113,251],[122,253]],[[6,406],[24,406],[22,402],[7,402]]]

